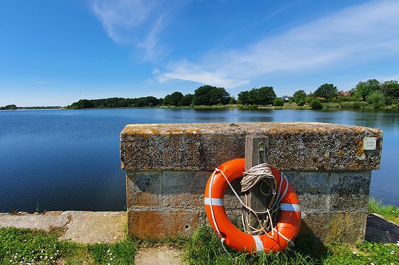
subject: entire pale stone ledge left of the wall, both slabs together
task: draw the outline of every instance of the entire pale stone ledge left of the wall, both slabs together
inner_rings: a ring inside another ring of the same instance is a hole
[[[43,214],[0,213],[0,228],[44,231],[62,229],[60,240],[81,244],[112,244],[125,238],[126,212],[49,211]]]

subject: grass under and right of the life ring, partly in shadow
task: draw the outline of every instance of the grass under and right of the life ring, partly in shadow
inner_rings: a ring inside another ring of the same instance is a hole
[[[365,242],[349,248],[333,242],[326,247],[315,247],[313,243],[311,238],[302,237],[295,241],[294,247],[279,253],[255,256],[231,249],[226,253],[220,239],[206,226],[186,242],[183,260],[189,264],[399,264],[399,247],[395,244]]]

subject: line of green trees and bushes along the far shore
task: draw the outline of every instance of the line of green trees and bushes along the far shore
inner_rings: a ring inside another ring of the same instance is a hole
[[[6,109],[87,109],[87,108],[238,108],[238,109],[399,109],[399,82],[380,83],[376,79],[360,81],[350,91],[339,91],[334,84],[322,84],[314,93],[296,91],[293,96],[277,97],[273,86],[255,87],[241,91],[238,98],[231,96],[224,87],[203,85],[194,94],[176,91],[164,98],[153,96],[140,98],[80,99],[71,105],[48,107],[17,107],[15,104],[0,107]]]

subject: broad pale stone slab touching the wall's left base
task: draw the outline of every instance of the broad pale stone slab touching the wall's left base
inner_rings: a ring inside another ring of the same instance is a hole
[[[81,244],[113,244],[125,237],[126,212],[65,211],[61,216],[70,219],[70,222],[66,224],[60,240]]]

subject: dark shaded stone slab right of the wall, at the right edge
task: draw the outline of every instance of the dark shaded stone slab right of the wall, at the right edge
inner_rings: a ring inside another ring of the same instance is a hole
[[[367,215],[365,240],[384,244],[399,241],[399,225],[385,219],[380,214]]]

